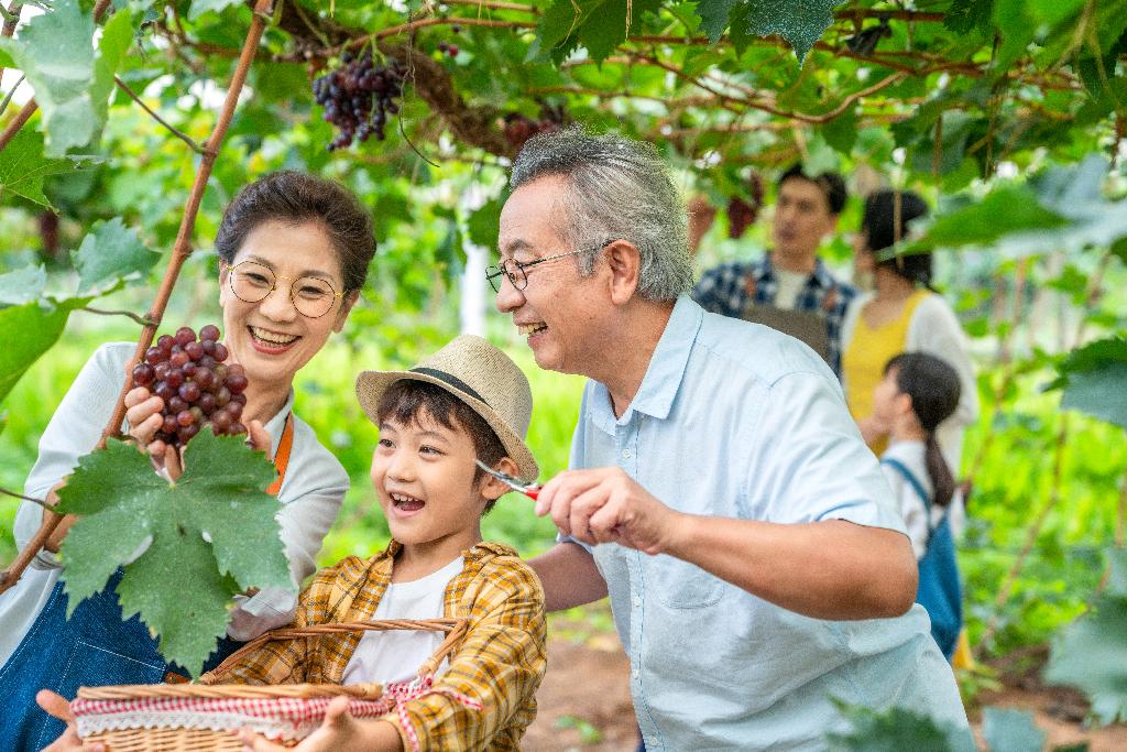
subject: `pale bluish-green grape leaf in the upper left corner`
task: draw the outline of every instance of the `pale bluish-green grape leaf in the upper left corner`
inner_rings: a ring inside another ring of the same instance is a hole
[[[50,12],[23,26],[18,38],[0,38],[0,50],[11,55],[35,89],[48,157],[85,147],[94,135],[92,38],[94,17],[82,12],[78,0],[59,0]]]

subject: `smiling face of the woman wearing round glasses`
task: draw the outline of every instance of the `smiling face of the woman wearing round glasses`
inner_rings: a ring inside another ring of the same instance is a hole
[[[329,312],[316,319],[302,316],[293,307],[290,287],[299,277],[318,277],[338,292],[344,287],[340,263],[329,236],[314,222],[259,224],[247,235],[233,266],[248,260],[268,268],[276,286],[263,300],[248,303],[232,292],[231,269],[223,269],[220,306],[224,343],[231,352],[231,362],[242,364],[251,384],[284,386],[289,390],[298,370],[321,350],[332,331],[344,326],[355,297],[334,301]]]

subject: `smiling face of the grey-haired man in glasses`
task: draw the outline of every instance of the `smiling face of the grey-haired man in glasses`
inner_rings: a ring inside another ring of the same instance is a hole
[[[500,212],[498,245],[502,262],[527,264],[576,250],[557,228],[559,196],[568,189],[562,177],[543,177],[513,192]],[[579,274],[576,256],[553,259],[527,269],[529,284],[517,290],[504,276],[497,310],[509,313],[527,337],[536,365],[562,373],[591,374],[603,360],[613,303],[602,259],[589,276]]]

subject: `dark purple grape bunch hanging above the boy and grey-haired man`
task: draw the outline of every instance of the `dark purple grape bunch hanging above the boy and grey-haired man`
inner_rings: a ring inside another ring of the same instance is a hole
[[[372,51],[361,57],[346,52],[344,65],[313,80],[313,98],[325,107],[325,120],[340,133],[329,142],[329,151],[352,145],[354,139],[370,136],[383,141],[388,116],[399,112],[396,98],[403,92],[403,71],[399,61],[388,65],[372,63]]]

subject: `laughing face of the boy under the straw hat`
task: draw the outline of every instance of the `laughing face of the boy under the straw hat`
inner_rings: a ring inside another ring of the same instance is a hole
[[[474,480],[476,457],[473,439],[456,421],[444,426],[423,410],[409,423],[380,424],[372,487],[392,538],[416,561],[443,566],[481,539],[486,502],[505,489]]]

